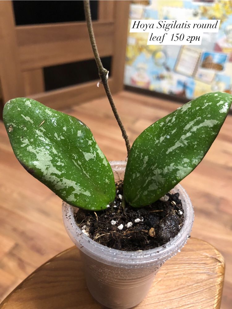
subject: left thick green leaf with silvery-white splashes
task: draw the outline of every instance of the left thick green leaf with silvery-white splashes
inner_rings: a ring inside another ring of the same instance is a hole
[[[7,102],[3,120],[19,162],[64,201],[101,210],[114,200],[113,171],[83,122],[27,98]]]

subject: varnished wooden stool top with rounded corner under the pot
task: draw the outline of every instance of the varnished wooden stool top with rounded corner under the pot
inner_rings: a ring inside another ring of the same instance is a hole
[[[148,296],[136,308],[220,308],[225,264],[221,253],[191,238],[157,273]],[[79,250],[67,249],[39,267],[0,304],[4,309],[95,309],[85,284]]]

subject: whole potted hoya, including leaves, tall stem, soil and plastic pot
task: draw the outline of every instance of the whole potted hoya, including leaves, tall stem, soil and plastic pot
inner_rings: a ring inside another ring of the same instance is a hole
[[[190,236],[193,208],[178,183],[217,137],[232,96],[208,93],[184,104],[145,129],[130,148],[97,52],[89,2],[84,6],[127,162],[109,163],[83,122],[33,99],[8,101],[3,120],[19,162],[62,198],[64,224],[80,249],[91,294],[106,307],[126,309],[140,303],[157,270]]]

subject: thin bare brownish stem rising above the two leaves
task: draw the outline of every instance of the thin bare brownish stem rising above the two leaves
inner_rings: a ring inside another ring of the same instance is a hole
[[[92,46],[92,51],[93,51],[93,54],[94,54],[95,61],[97,63],[97,67],[98,67],[98,74],[99,74],[99,77],[101,78],[101,82],[102,82],[103,87],[105,89],[105,93],[107,95],[107,98],[110,102],[110,106],[112,108],[114,116],[115,116],[115,118],[118,122],[118,125],[119,125],[119,127],[122,131],[122,137],[124,138],[125,143],[126,143],[127,156],[128,156],[129,152],[131,150],[130,142],[129,142],[129,139],[128,139],[128,136],[127,136],[127,132],[126,132],[126,130],[125,130],[123,124],[122,124],[121,118],[118,115],[117,108],[114,104],[114,100],[113,100],[111,92],[110,92],[110,87],[109,87],[109,84],[108,84],[108,73],[109,72],[103,67],[103,65],[101,63],[101,59],[99,57],[99,53],[98,53],[98,50],[97,50],[97,44],[96,44],[96,41],[95,41],[93,28],[92,28],[91,12],[90,12],[90,5],[89,5],[88,0],[84,0],[84,13],[85,13],[85,19],[86,19],[86,22],[87,22],[88,34],[89,34],[89,39],[90,39],[91,46]]]

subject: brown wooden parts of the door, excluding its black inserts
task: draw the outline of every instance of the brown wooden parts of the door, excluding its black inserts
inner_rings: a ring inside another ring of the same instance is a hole
[[[99,20],[93,21],[100,56],[112,57],[112,93],[123,89],[129,5],[129,1],[100,1]],[[44,92],[44,67],[93,59],[84,21],[15,26],[12,1],[0,0],[0,47],[0,110],[9,99],[28,95],[56,109],[103,95],[98,81]]]

